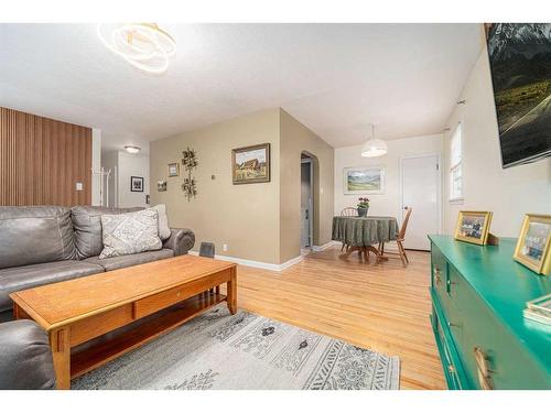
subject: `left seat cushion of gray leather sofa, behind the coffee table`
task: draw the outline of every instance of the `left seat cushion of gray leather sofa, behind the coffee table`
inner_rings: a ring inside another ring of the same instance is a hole
[[[57,261],[0,270],[0,311],[10,309],[14,291],[104,272],[101,265],[84,261]]]

